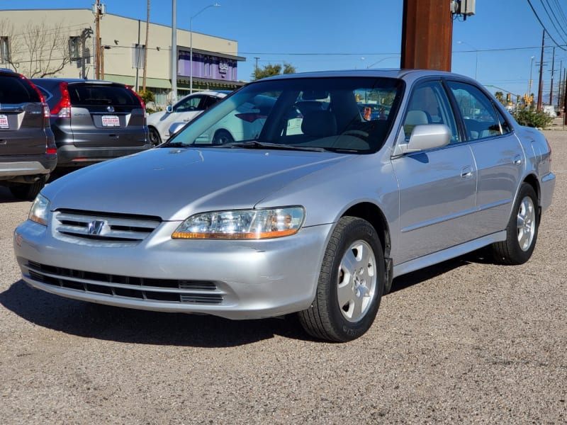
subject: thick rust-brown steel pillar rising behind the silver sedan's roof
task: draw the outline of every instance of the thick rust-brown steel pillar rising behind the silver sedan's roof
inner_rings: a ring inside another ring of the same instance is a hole
[[[451,71],[453,16],[447,0],[404,0],[400,67]]]

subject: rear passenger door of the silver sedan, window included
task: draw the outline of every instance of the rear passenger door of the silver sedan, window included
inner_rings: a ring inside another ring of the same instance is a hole
[[[473,84],[447,81],[463,117],[478,167],[476,214],[471,222],[481,234],[505,229],[525,168],[520,140],[492,99]]]

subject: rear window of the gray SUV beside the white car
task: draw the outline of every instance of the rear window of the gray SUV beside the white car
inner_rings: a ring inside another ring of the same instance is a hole
[[[69,84],[67,89],[73,105],[140,106],[133,91],[125,87]]]

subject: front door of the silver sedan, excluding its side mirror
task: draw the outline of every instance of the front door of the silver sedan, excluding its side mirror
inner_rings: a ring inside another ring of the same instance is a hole
[[[476,164],[463,143],[447,92],[440,81],[416,86],[405,111],[407,142],[413,128],[444,124],[451,130],[449,145],[393,157],[400,191],[399,242],[395,265],[472,239],[469,222],[475,208]]]

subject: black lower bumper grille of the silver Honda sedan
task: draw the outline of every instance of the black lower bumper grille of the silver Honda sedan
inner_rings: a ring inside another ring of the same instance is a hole
[[[223,302],[223,293],[211,280],[151,279],[93,273],[47,266],[28,261],[30,278],[57,288],[84,293],[125,297],[148,302],[213,305]]]

